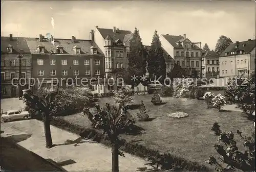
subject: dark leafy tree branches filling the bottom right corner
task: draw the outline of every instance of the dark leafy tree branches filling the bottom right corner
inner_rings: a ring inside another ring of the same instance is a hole
[[[227,165],[223,167],[223,164],[220,164],[214,156],[210,156],[209,160],[206,161],[210,165],[215,165],[217,171],[233,168],[242,171],[255,171],[255,133],[252,132],[250,136],[244,137],[242,132],[237,130],[237,134],[242,138],[246,151],[244,153],[239,151],[232,131],[221,132],[218,143],[214,145],[214,148],[222,156],[222,163]]]

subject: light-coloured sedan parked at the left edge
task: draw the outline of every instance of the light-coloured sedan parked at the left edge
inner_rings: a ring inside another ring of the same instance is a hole
[[[6,114],[3,114],[1,120],[4,122],[9,122],[15,119],[28,119],[30,114],[28,111],[19,111],[19,110],[9,110]]]

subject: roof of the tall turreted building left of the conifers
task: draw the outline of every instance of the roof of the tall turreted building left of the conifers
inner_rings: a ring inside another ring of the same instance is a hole
[[[131,34],[132,34],[131,31],[125,31],[125,30],[119,30],[119,29],[116,29],[116,33],[113,32],[113,29],[105,29],[105,28],[97,28],[97,29],[104,39],[109,35],[109,37],[113,41],[120,39],[123,43],[127,42],[127,40],[131,37]]]

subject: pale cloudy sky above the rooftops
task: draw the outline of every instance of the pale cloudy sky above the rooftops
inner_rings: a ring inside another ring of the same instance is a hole
[[[144,45],[158,34],[183,35],[215,49],[225,35],[255,39],[253,1],[2,1],[1,35],[90,39],[99,28],[139,30]],[[54,19],[54,29],[51,24]]]

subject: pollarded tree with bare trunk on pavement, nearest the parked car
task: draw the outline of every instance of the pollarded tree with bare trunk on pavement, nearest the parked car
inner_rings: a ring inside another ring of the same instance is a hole
[[[24,101],[26,105],[33,109],[37,115],[40,115],[44,120],[45,137],[46,137],[46,148],[52,148],[52,136],[50,129],[51,116],[50,112],[54,108],[53,99],[57,94],[57,91],[48,92],[43,97],[38,97],[30,93],[25,93]]]

